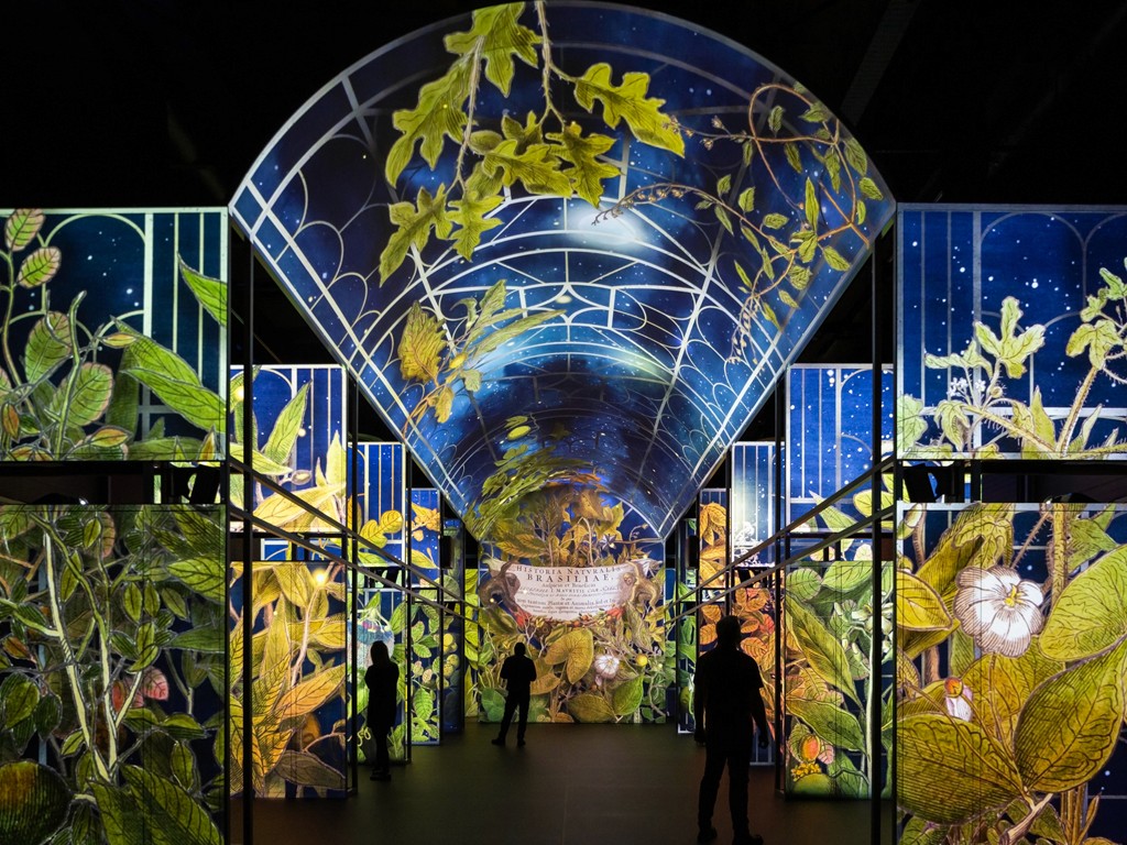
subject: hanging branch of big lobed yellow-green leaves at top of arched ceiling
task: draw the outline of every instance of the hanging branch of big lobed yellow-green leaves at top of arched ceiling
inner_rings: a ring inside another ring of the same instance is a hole
[[[505,192],[520,185],[529,194],[577,195],[597,206],[603,181],[619,168],[601,158],[615,143],[613,135],[587,132],[569,121],[556,97],[566,89],[587,113],[602,109],[609,130],[624,123],[639,141],[684,152],[684,140],[660,107],[664,100],[647,97],[649,75],[628,72],[615,83],[610,65],[592,65],[582,75],[561,69],[548,41],[547,5],[538,1],[536,30],[521,23],[525,3],[478,9],[472,26],[445,37],[455,59],[446,73],[419,90],[415,108],[392,115],[400,133],[388,151],[384,174],[399,181],[416,155],[436,170],[447,141],[456,150],[452,172],[434,193],[419,188],[414,202],[390,208],[394,232],[380,256],[380,281],[385,281],[414,248],[421,252],[432,237],[454,243],[469,259],[481,234],[500,225],[490,213],[502,205]],[[483,115],[478,108],[482,86],[509,95],[517,63],[538,69],[544,105],[524,122],[508,115]]]

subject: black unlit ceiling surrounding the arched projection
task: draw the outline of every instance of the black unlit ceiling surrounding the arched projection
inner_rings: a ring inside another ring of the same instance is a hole
[[[10,5],[0,206],[225,205],[325,82],[480,5]],[[853,128],[899,202],[1127,205],[1121,0],[640,5],[724,33],[804,82]],[[855,321],[869,294],[854,288],[806,359],[867,359],[868,329]],[[260,302],[266,357],[328,359],[279,293]]]

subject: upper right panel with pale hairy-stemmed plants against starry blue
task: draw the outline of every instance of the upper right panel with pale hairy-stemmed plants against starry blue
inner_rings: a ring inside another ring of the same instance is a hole
[[[1127,213],[904,206],[897,450],[1127,454]]]

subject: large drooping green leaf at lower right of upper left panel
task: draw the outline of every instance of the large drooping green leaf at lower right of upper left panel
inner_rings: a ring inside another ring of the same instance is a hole
[[[199,382],[199,376],[179,355],[147,337],[125,350],[119,371],[152,390],[160,400],[188,422],[205,432],[222,433],[227,403]]]

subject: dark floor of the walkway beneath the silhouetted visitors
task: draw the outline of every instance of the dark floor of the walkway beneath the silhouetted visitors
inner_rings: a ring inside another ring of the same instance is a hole
[[[254,806],[254,845],[669,845],[696,840],[704,751],[672,726],[543,724],[527,745],[489,744],[495,726],[468,724],[441,747],[416,747],[389,782],[360,770],[357,794],[338,801]],[[753,768],[752,830],[766,845],[864,845],[868,802],[786,800],[773,768]],[[727,777],[717,843],[731,842]],[[884,843],[889,843],[887,810]],[[231,842],[243,843],[236,813]]]

